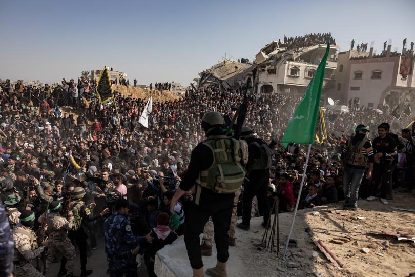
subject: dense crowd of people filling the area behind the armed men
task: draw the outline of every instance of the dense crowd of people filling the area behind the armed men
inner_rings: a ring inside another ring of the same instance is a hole
[[[314,45],[327,39],[330,34],[310,34],[285,43],[298,48],[298,44]],[[70,276],[75,242],[81,276],[90,275],[87,252],[100,247],[98,235],[105,236],[111,275],[116,276],[114,270],[120,268],[126,275],[136,270],[135,258],[130,258],[142,255],[149,275],[154,276],[156,252],[185,232],[195,200],[192,190],[177,204],[174,195],[186,176],[192,150],[205,139],[201,118],[214,110],[229,125],[244,97],[238,91],[210,87],[179,100],[154,102],[149,128],[144,128],[138,120],[146,100],[114,91],[115,100],[102,105],[95,84],[85,78],[76,84],[64,79],[54,88],[47,84],[25,87],[22,82],[12,85],[7,80],[1,88],[0,196],[14,247],[0,249],[0,260],[5,261],[0,264],[16,276],[42,276],[32,261],[45,247],[49,249],[45,270],[60,252],[64,258],[59,274]],[[155,88],[170,89],[170,84],[157,83]],[[403,116],[400,123],[386,112],[356,108],[341,115],[326,112],[328,137],[313,145],[300,192],[305,148],[296,144],[284,148],[278,143],[299,101],[291,95],[249,96],[246,141],[261,138],[272,153],[269,165],[254,168],[250,175],[265,178],[265,185],[251,191],[250,183],[245,183],[241,196],[236,197],[236,215],[243,219],[238,227],[248,229],[252,216],[264,216],[266,226],[275,197],[280,212],[293,211],[298,197],[300,208],[344,200],[345,208],[356,209],[359,196],[368,200],[380,196],[387,204],[392,186],[412,190],[413,130],[402,128],[401,137],[391,132],[400,131],[408,117]],[[360,179],[351,177],[358,173]],[[35,245],[37,230],[49,239]],[[233,239],[230,244],[236,245]],[[13,248],[15,255],[7,260]]]

